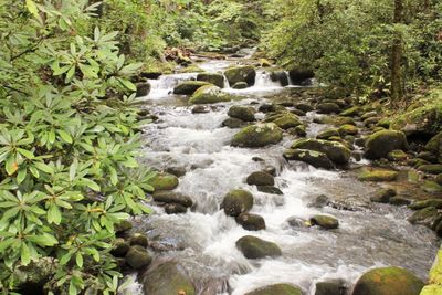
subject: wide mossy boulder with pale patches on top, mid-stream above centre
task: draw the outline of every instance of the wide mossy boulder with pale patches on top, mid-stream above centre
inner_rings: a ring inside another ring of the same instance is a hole
[[[244,127],[233,136],[234,147],[259,148],[275,145],[283,139],[283,131],[273,123],[256,124]]]

